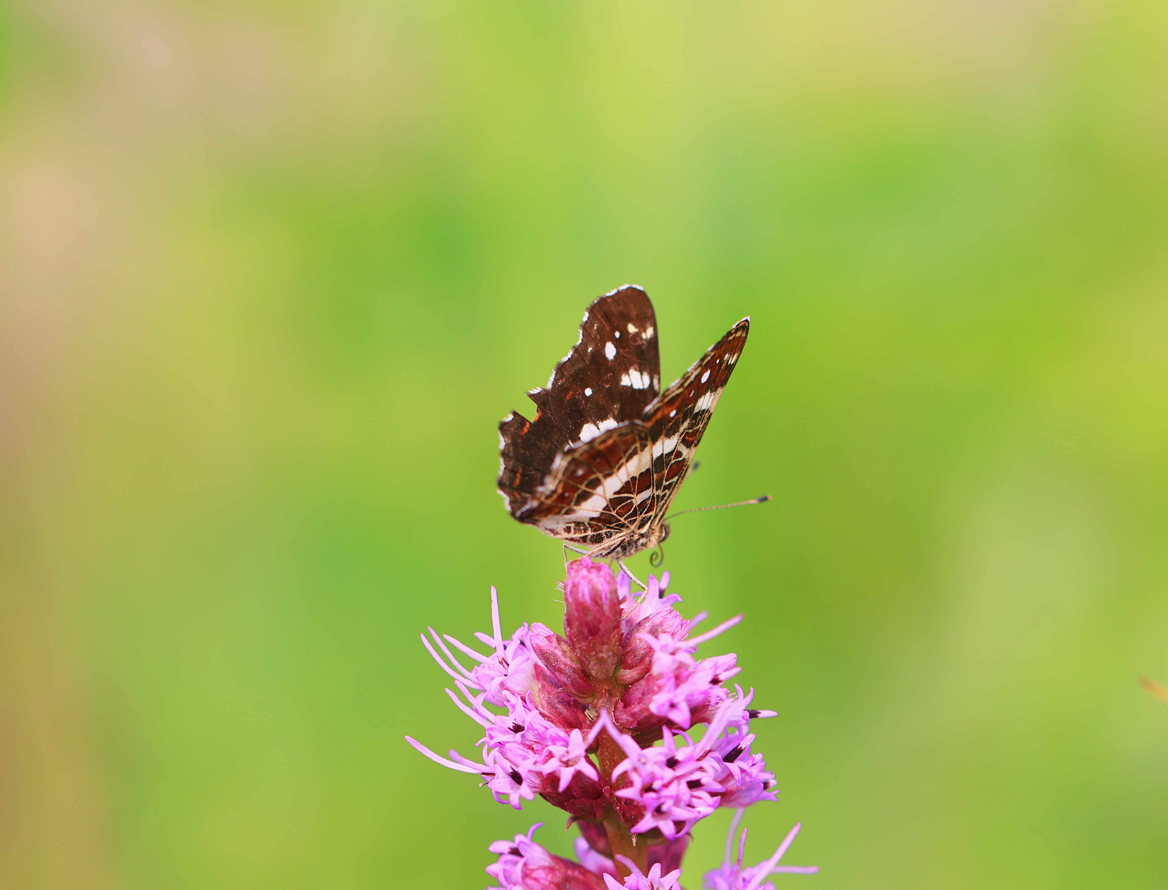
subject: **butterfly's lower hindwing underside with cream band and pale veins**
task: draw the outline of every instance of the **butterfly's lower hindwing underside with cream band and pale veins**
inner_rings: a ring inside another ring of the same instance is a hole
[[[514,516],[577,544],[619,545],[655,511],[653,440],[626,421],[556,456],[543,485]]]

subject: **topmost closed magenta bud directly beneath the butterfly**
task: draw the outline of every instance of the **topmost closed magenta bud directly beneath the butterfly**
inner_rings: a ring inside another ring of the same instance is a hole
[[[591,676],[612,676],[620,658],[620,595],[612,570],[582,557],[568,566],[564,635]]]

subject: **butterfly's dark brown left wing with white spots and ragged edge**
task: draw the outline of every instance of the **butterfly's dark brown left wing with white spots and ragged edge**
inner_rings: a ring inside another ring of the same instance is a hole
[[[499,491],[512,515],[535,496],[570,444],[640,419],[660,391],[660,368],[656,317],[645,291],[626,285],[593,301],[577,344],[548,386],[528,393],[535,420],[512,412],[499,425]]]

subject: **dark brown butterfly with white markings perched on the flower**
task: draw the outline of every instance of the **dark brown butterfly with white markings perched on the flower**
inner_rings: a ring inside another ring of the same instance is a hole
[[[535,419],[512,412],[499,423],[508,512],[595,559],[663,541],[666,512],[749,332],[748,317],[660,392],[648,295],[626,284],[598,297],[548,385],[528,392]]]

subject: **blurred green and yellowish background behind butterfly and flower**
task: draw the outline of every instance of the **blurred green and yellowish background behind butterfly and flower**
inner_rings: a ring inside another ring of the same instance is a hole
[[[595,296],[751,340],[666,567],[783,886],[1168,882],[1168,6],[0,13],[0,883],[480,888],[418,632],[558,625],[495,425]],[[647,572],[646,556],[634,568]],[[687,884],[719,856],[698,830]]]

